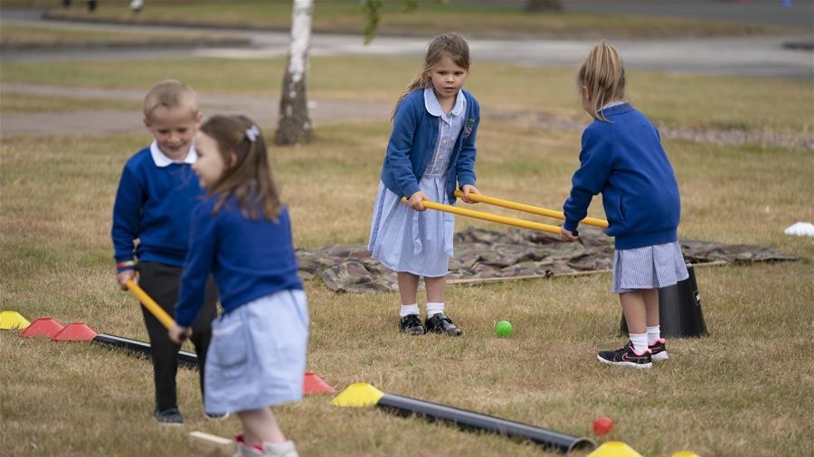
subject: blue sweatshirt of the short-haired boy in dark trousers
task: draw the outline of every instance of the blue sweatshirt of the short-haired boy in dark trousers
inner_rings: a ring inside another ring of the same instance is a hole
[[[139,262],[184,265],[190,217],[204,191],[190,163],[165,160],[166,166],[158,166],[146,147],[124,166],[110,230],[117,264],[136,256]],[[118,270],[132,268],[131,264]]]

